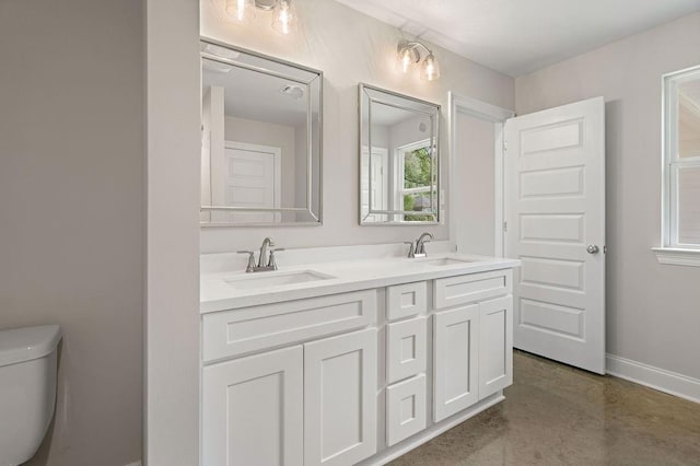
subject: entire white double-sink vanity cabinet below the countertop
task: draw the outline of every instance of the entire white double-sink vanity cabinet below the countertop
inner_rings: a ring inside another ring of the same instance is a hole
[[[442,273],[202,314],[202,466],[381,465],[502,400],[511,281]]]

